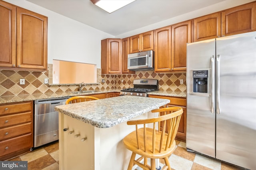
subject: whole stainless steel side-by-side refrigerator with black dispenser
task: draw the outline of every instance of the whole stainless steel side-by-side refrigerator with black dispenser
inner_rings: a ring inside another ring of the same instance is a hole
[[[186,148],[256,170],[256,31],[187,44]]]

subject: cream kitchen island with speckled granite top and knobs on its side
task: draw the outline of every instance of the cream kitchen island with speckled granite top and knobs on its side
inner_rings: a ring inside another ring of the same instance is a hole
[[[126,122],[158,116],[170,100],[119,96],[55,107],[59,111],[60,170],[126,170],[131,152],[122,139],[135,130]]]

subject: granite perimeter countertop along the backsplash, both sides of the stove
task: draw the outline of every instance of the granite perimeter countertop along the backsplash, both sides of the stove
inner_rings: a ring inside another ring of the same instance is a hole
[[[55,92],[55,93],[44,93],[44,94],[0,96],[0,104],[7,104],[7,103],[14,103],[14,102],[25,102],[25,101],[40,100],[40,99],[63,98],[63,97],[69,97],[69,96],[71,97],[71,96],[100,94],[100,93],[109,93],[109,92],[120,92],[120,90],[121,89],[112,89],[112,90],[94,91],[94,92],[77,93],[77,94],[73,94],[72,92]],[[184,92],[172,92],[172,91],[158,90],[158,91],[154,91],[154,92],[149,92],[148,94],[186,98],[186,93],[184,93]]]

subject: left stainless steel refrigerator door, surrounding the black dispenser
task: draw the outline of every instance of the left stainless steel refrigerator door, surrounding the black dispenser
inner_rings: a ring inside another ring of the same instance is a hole
[[[215,157],[214,59],[215,39],[187,44],[186,147],[212,157]],[[193,70],[208,70],[208,94],[191,92]]]

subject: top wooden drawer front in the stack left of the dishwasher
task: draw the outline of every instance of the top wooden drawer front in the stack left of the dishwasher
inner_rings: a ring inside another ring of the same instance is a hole
[[[5,105],[0,105],[0,115],[32,111],[32,109],[33,109],[32,101],[8,104],[8,105],[5,104]]]

